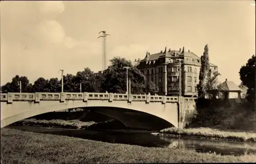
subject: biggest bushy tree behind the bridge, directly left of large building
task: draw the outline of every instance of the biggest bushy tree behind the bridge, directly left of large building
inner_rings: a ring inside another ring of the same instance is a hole
[[[133,94],[144,93],[144,75],[136,68],[133,67],[131,61],[125,58],[114,57],[110,60],[111,65],[103,73],[104,80],[101,88],[103,91],[114,93],[126,92],[126,69],[125,66],[131,67],[128,76],[131,78],[131,92]]]

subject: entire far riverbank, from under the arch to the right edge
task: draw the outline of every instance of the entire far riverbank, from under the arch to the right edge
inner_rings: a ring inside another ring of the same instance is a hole
[[[91,129],[90,127],[105,127],[103,124],[112,124],[112,120],[106,122],[82,122],[79,120],[36,120],[36,119],[25,119],[18,121],[13,125],[29,125],[29,126],[44,126],[44,127],[55,127],[55,128],[69,128],[69,129]],[[99,125],[99,126],[97,126]],[[102,126],[103,125],[103,126]],[[234,140],[239,142],[252,142],[256,143],[256,133],[253,132],[241,132],[235,130],[218,130],[214,128],[167,128],[160,131],[147,131],[147,130],[133,130],[133,129],[108,129],[99,128],[103,131],[117,131],[124,133],[153,133],[154,135],[172,135],[172,136],[183,136],[183,137],[196,137],[196,138],[207,138],[216,140]]]

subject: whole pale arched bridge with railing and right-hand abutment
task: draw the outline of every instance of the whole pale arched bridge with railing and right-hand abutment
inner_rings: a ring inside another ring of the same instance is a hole
[[[195,113],[194,99],[98,92],[1,93],[1,128],[42,113],[73,108],[95,109],[126,127],[143,129],[178,127],[181,114],[180,126],[183,127]],[[153,121],[154,118],[158,121]]]

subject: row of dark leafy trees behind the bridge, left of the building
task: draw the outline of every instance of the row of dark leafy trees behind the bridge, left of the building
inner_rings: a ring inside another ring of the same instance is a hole
[[[144,75],[132,65],[130,60],[125,58],[114,57],[110,60],[110,66],[102,73],[95,74],[90,68],[86,67],[83,71],[79,71],[76,75],[63,75],[63,91],[80,92],[80,84],[82,92],[126,92],[126,69],[123,67],[131,67],[129,69],[129,78],[131,79],[131,92],[133,94],[144,94],[150,92],[155,94],[158,87],[149,82],[144,85]],[[50,78],[45,79],[39,77],[34,84],[29,82],[26,76],[16,75],[11,82],[1,86],[2,92],[19,92],[19,81],[22,83],[22,92],[61,92],[61,79]]]

